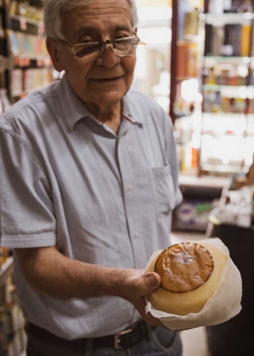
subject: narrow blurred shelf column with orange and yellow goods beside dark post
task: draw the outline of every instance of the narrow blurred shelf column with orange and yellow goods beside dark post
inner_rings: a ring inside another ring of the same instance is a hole
[[[201,141],[204,1],[172,2],[169,113],[175,125],[181,173],[197,175]]]

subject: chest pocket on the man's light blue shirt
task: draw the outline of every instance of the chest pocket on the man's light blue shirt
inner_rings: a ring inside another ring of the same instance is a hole
[[[168,216],[175,208],[175,191],[170,166],[152,169],[157,216]]]

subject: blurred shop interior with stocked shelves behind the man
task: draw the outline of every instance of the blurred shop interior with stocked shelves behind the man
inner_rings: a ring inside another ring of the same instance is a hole
[[[244,288],[232,321],[181,332],[183,356],[253,351],[253,3],[136,0],[146,46],[137,48],[132,85],[170,114],[177,143],[183,200],[173,212],[171,242],[220,237]],[[46,52],[42,5],[0,0],[0,114],[59,77]],[[0,341],[8,323],[8,356],[21,356],[25,334],[11,251],[0,251],[0,267]]]

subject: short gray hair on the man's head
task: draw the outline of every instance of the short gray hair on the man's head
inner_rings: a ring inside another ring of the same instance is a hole
[[[117,0],[116,0],[117,1]],[[138,25],[138,13],[135,0],[126,0],[130,5],[133,29]],[[62,34],[62,12],[79,5],[92,4],[93,0],[44,0],[44,28],[47,37],[65,41]]]

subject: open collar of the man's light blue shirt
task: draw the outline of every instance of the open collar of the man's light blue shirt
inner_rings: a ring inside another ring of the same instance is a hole
[[[68,84],[65,76],[60,80],[57,87],[57,92],[61,100],[63,115],[65,117],[66,123],[69,129],[72,131],[75,124],[85,117],[90,117],[96,121],[99,125],[102,123],[96,119],[96,117],[86,108],[82,103],[77,94],[73,91],[71,86]],[[67,100],[68,98],[68,100]],[[144,114],[141,109],[137,106],[135,100],[130,92],[126,93],[122,99],[123,111],[122,114],[126,119],[129,119],[132,123],[144,124]]]

